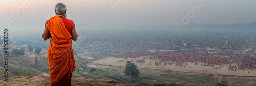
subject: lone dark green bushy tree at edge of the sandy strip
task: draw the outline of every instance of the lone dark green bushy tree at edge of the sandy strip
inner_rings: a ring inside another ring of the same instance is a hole
[[[132,77],[137,77],[140,74],[140,71],[137,69],[137,66],[134,65],[134,63],[131,63],[130,61],[127,61],[126,63],[126,69],[124,73],[126,75],[132,76]]]

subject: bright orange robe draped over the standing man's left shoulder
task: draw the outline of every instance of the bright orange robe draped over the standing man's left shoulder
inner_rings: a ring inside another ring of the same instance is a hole
[[[47,57],[50,81],[56,85],[67,72],[75,71],[72,36],[59,16],[47,20],[46,27],[51,34]]]

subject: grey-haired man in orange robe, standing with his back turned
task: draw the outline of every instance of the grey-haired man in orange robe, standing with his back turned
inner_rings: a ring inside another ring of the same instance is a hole
[[[75,59],[72,39],[76,41],[75,24],[66,17],[66,6],[58,3],[56,15],[46,21],[42,38],[50,39],[48,65],[51,85],[71,85],[72,72],[75,71]]]

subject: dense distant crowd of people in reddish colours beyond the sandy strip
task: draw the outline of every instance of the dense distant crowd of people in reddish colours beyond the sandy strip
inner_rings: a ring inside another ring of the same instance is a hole
[[[158,65],[164,63],[164,65],[177,63],[177,65],[184,65],[185,62],[195,62],[200,63],[203,66],[213,66],[213,65],[224,65],[224,64],[236,64],[239,69],[256,69],[256,58],[246,57],[237,54],[228,53],[208,53],[200,51],[168,51],[168,52],[127,52],[123,54],[116,55],[116,57],[127,57],[134,58],[136,62],[145,62],[148,60],[160,60],[156,62]],[[137,57],[143,57],[136,59]],[[233,69],[233,67],[232,67]]]

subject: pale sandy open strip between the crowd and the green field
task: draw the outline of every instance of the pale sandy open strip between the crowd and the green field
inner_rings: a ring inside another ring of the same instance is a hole
[[[93,63],[97,63],[99,65],[106,65],[106,66],[118,66],[118,67],[125,67],[126,65],[126,61],[130,61],[133,58],[114,58],[114,57],[107,57],[105,59],[100,59],[97,61],[93,61]],[[135,59],[139,59],[139,58],[135,58]],[[133,59],[133,60],[135,60]],[[160,60],[156,60],[156,61],[160,61]],[[172,71],[180,71],[180,72],[188,72],[188,73],[198,73],[198,74],[222,74],[222,75],[231,75],[231,76],[255,76],[256,77],[256,70],[236,70],[236,71],[232,71],[232,70],[228,70],[228,65],[224,65],[223,67],[219,66],[219,65],[214,65],[212,66],[201,66],[200,63],[198,63],[198,65],[195,65],[195,63],[187,63],[187,65],[185,65],[186,67],[184,67],[183,65],[180,66],[175,66],[175,64],[172,65],[164,65],[159,64],[158,66],[155,65],[155,60],[145,60],[145,63],[138,63],[133,61],[132,63],[134,63],[135,65],[137,65],[138,68],[146,68],[146,69],[158,69],[158,70],[172,70]],[[151,64],[151,65],[149,65]],[[235,64],[233,64],[232,66],[234,66]],[[237,65],[236,65],[237,66]],[[215,69],[214,69],[215,67]],[[216,69],[216,67],[221,67],[220,69]],[[249,73],[248,73],[249,72]]]

